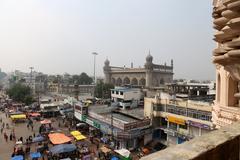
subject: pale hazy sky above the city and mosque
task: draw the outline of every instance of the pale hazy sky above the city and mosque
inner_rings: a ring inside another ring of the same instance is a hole
[[[0,68],[97,74],[174,60],[174,78],[215,79],[209,0],[0,0]]]

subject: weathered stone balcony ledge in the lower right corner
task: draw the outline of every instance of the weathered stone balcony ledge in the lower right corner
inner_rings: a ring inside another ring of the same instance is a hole
[[[240,123],[237,122],[141,160],[239,160],[239,140]]]

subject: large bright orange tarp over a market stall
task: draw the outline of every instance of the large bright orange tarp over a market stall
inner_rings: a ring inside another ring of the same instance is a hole
[[[52,144],[63,144],[71,141],[71,138],[63,133],[52,133],[48,135]]]

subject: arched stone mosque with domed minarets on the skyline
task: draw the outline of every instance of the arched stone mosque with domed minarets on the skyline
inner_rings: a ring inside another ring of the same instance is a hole
[[[165,83],[173,81],[173,60],[168,66],[154,64],[153,57],[149,54],[146,57],[144,68],[114,67],[110,66],[107,59],[103,67],[105,74],[105,83],[112,83],[115,86],[134,85],[144,88],[159,87]]]

